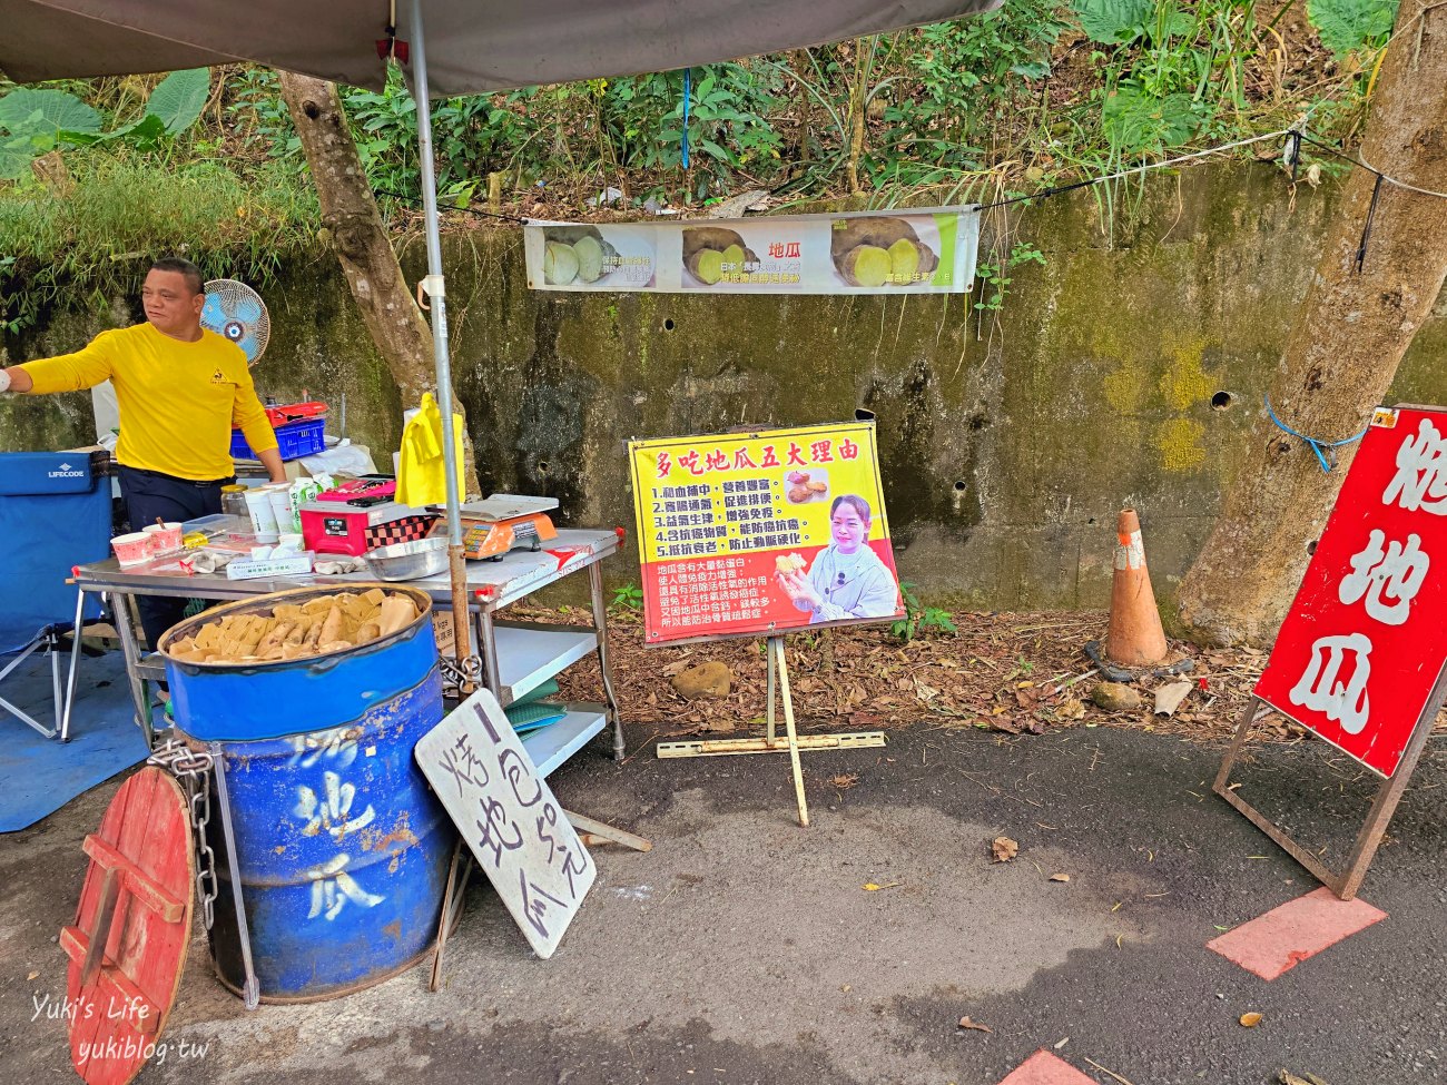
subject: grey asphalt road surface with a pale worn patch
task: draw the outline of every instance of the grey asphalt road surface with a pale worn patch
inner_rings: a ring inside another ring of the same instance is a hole
[[[551,780],[569,809],[655,845],[595,849],[551,961],[475,882],[443,991],[412,969],[249,1014],[198,933],[165,1060],[140,1081],[993,1085],[1042,1047],[1103,1085],[1447,1079],[1440,739],[1362,893],[1388,919],[1266,982],[1205,943],[1315,881],[1211,796],[1220,745],[894,731],[884,749],[805,755],[802,829],[784,758],[658,761],[645,738],[621,767],[598,746]],[[1334,862],[1370,787],[1317,742],[1256,749],[1234,778]],[[71,1078],[65,1026],[36,1005],[64,994],[55,935],[117,786],[0,838],[6,1081]],[[991,862],[1000,835],[1020,843],[1010,862]],[[1247,1011],[1262,1023],[1242,1027]]]

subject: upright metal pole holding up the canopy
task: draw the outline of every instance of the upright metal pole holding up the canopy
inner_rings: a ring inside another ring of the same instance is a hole
[[[417,103],[417,150],[423,169],[423,211],[427,221],[427,278],[431,298],[433,356],[437,363],[437,405],[443,417],[443,464],[447,483],[447,554],[451,573],[453,644],[459,668],[472,655],[467,637],[467,564],[462,550],[462,515],[457,509],[457,444],[453,440],[451,362],[447,357],[447,286],[443,279],[443,244],[437,224],[437,171],[433,165],[433,103],[427,91],[427,46],[423,0],[411,0],[412,100]],[[463,671],[466,673],[466,671]],[[463,690],[466,694],[467,690]]]

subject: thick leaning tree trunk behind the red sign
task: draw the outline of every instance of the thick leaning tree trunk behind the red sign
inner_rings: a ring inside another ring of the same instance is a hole
[[[1441,191],[1447,176],[1447,9],[1402,0],[1362,158]],[[1420,36],[1418,36],[1420,35]],[[1321,441],[1350,437],[1380,404],[1447,276],[1447,200],[1382,182],[1366,259],[1357,247],[1376,176],[1354,169],[1307,299],[1270,382],[1278,418]],[[1240,475],[1181,584],[1181,621],[1201,644],[1269,644],[1351,464],[1323,472],[1311,448],[1260,411]]]

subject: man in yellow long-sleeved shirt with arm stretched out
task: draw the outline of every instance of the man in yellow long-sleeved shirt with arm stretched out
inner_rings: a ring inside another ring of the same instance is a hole
[[[48,395],[116,386],[120,493],[135,531],[156,519],[187,521],[221,511],[234,482],[232,427],[240,427],[272,482],[285,482],[266,411],[246,354],[201,327],[201,272],[190,260],[156,260],[140,291],[146,323],[103,331],[74,354],[0,369],[0,392]],[[181,621],[184,599],[140,596],[140,625],[152,648]]]

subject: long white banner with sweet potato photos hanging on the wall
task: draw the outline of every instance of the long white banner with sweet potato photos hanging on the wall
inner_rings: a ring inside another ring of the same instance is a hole
[[[980,211],[538,223],[522,239],[528,286],[541,291],[964,294],[975,278]]]

